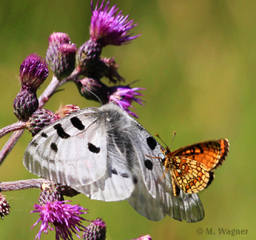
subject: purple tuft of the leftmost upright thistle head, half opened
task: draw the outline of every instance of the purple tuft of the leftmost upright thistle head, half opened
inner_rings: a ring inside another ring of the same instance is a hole
[[[42,57],[38,54],[30,54],[22,62],[19,74],[22,88],[29,87],[37,90],[48,77],[49,70],[46,61]]]

